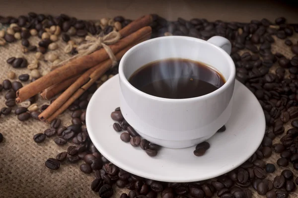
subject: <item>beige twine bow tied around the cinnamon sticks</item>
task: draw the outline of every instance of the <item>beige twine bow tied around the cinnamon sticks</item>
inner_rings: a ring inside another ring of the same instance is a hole
[[[85,40],[87,41],[84,44],[81,44],[76,48],[79,56],[85,56],[95,52],[98,48],[104,48],[110,59],[112,60],[112,65],[117,64],[117,59],[113,54],[111,48],[108,45],[114,44],[121,38],[119,32],[112,31],[107,35],[99,34],[97,36],[86,36]]]

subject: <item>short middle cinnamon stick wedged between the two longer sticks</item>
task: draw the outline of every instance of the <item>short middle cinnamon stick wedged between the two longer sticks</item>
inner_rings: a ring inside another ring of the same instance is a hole
[[[41,92],[40,96],[45,100],[49,100],[52,97],[54,97],[56,94],[60,93],[61,91],[65,90],[69,86],[71,86],[78,77],[79,77],[79,75],[69,78],[63,82],[54,84],[54,85],[46,88],[45,90],[43,90]]]

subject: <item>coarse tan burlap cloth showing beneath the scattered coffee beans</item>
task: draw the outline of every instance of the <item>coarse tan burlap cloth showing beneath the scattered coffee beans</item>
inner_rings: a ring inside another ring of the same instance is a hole
[[[275,38],[276,39],[276,38]],[[31,37],[30,43],[37,45],[40,39]],[[284,40],[276,39],[273,45],[273,52],[279,51],[287,58],[291,58],[290,47],[284,44]],[[291,37],[293,43],[298,41],[298,35]],[[65,42],[58,41],[59,49],[50,51],[55,53],[60,59],[65,60],[69,56],[64,53]],[[14,71],[17,76],[23,73],[29,73],[29,69],[14,69],[6,63],[9,57],[25,56],[29,63],[35,59],[35,53],[23,54],[21,52],[20,41],[0,47],[0,82],[7,78],[8,71]],[[39,71],[50,69],[50,63],[40,62]],[[4,107],[4,93],[0,93],[0,107]],[[48,101],[38,100],[38,105],[49,104]],[[109,116],[109,115],[107,115]],[[67,111],[60,116],[63,125],[71,124],[70,112]],[[286,131],[291,128],[291,121],[285,125]],[[90,184],[93,181],[94,174],[84,174],[79,170],[82,161],[76,164],[70,164],[65,161],[59,170],[50,170],[45,167],[45,161],[49,157],[55,158],[56,155],[65,151],[70,143],[65,146],[58,146],[54,143],[54,137],[46,138],[45,142],[37,144],[33,141],[33,135],[38,132],[44,132],[49,127],[48,124],[30,119],[26,122],[20,122],[16,116],[11,113],[9,116],[1,116],[0,132],[4,136],[4,141],[0,143],[0,198],[83,198],[83,197],[99,197],[91,191]],[[274,143],[279,142],[277,137]],[[285,169],[276,164],[279,154],[273,152],[272,156],[265,159],[267,163],[275,164],[277,170],[273,174],[268,174],[267,179],[273,181],[276,175]],[[289,167],[295,177],[298,172],[294,170],[293,165]],[[114,187],[113,198],[119,198],[122,193],[128,193],[127,189],[119,189]],[[255,190],[252,189],[254,198],[261,198]],[[291,193],[290,197],[298,197],[298,191]],[[217,196],[215,196],[217,197]]]

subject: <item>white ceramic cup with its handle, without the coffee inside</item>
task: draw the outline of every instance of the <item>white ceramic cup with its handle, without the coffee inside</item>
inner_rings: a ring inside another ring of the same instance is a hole
[[[150,142],[168,148],[186,148],[209,139],[228,121],[235,83],[230,42],[214,36],[208,41],[166,36],[131,48],[119,65],[120,108],[125,120]],[[128,79],[140,67],[154,61],[183,58],[218,70],[226,82],[209,94],[167,99],[146,94]]]

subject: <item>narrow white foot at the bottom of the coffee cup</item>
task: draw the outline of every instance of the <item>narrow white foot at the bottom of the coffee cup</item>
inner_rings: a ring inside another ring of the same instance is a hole
[[[136,130],[137,131],[137,130]],[[188,148],[194,145],[197,145],[209,138],[211,138],[216,132],[211,133],[210,135],[200,137],[197,139],[190,139],[190,140],[165,140],[165,139],[157,139],[151,136],[148,136],[142,132],[137,131],[143,138],[147,139],[149,142],[154,144],[160,145],[165,148],[173,148],[173,149],[180,149],[180,148]]]

